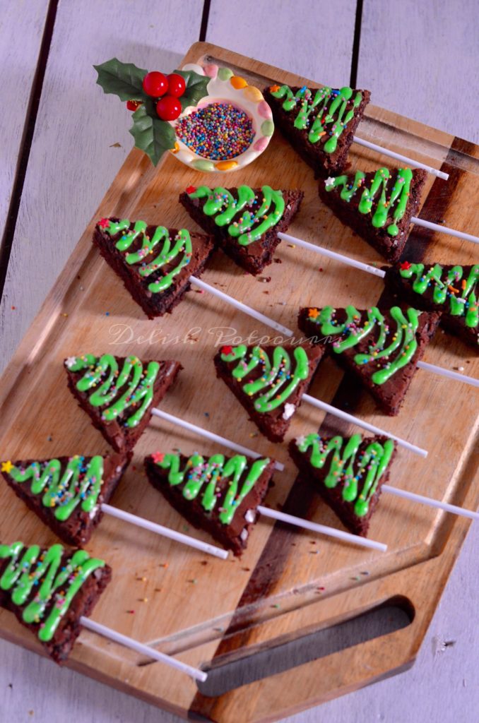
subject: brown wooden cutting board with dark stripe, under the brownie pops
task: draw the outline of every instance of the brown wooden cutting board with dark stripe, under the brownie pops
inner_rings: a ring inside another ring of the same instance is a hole
[[[184,60],[198,61],[231,67],[258,87],[270,80],[308,83],[208,43],[196,43]],[[358,134],[441,166],[450,174],[449,181],[428,177],[420,215],[477,232],[477,146],[373,106],[368,106]],[[365,170],[387,165],[385,157],[357,145],[350,160],[352,168]],[[290,228],[292,234],[382,264],[368,244],[321,204],[313,171],[279,132],[258,161],[226,181],[303,189],[305,200]],[[318,496],[295,494],[296,474],[287,442],[318,427],[343,433],[349,428],[303,405],[284,445],[271,444],[258,435],[242,407],[215,378],[212,358],[219,345],[249,335],[253,341],[263,337],[264,342],[274,338],[274,333],[195,291],[171,316],[149,321],[90,241],[96,219],[109,215],[195,228],[177,202],[179,192],[190,184],[226,181],[223,176],[190,173],[172,155],[153,168],[143,153],[132,150],[2,377],[1,458],[107,451],[103,437],[67,391],[64,357],[109,352],[174,358],[181,361],[184,371],[162,408],[284,462],[285,471],[276,474],[275,487],[268,493],[268,505],[282,505],[289,513],[339,526]],[[52,243],[62,243],[64,229],[52,225],[41,231],[51,233]],[[407,249],[415,261],[467,264],[477,258],[472,244],[422,229],[413,231]],[[368,307],[383,290],[381,279],[288,244],[279,246],[276,261],[253,278],[217,252],[203,279],[290,328],[296,328],[300,306],[352,303]],[[446,369],[464,367],[468,375],[479,376],[472,351],[441,332],[428,346],[425,361]],[[473,484],[478,467],[476,390],[419,371],[401,414],[391,419],[379,414],[369,396],[352,387],[332,361],[323,361],[310,393],[428,449],[426,460],[400,450],[391,484],[470,509],[478,507],[479,492]],[[135,448],[113,504],[185,531],[185,521],[143,474],[146,453],[171,448],[184,453],[219,451],[195,435],[153,420]],[[68,664],[183,716],[225,723],[287,716],[412,664],[468,525],[464,518],[385,494],[373,517],[370,537],[386,542],[386,553],[260,520],[242,559],[223,562],[105,518],[88,550],[109,562],[114,581],[98,603],[94,619],[196,667],[219,667],[253,651],[272,649],[391,600],[413,611],[413,619],[402,630],[216,698],[199,693],[195,683],[179,672],[145,661],[87,631],[82,632]],[[201,531],[190,532],[208,539]],[[6,485],[0,487],[0,539],[56,541]],[[0,635],[41,652],[35,638],[5,611],[0,611]]]

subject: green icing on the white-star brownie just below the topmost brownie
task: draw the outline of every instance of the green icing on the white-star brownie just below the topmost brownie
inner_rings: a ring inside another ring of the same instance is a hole
[[[351,181],[350,176],[347,175],[326,179],[326,191],[329,192],[334,188],[342,187],[339,195],[343,201],[349,202],[359,189],[363,189],[357,207],[359,212],[371,213],[373,204],[375,205],[373,218],[371,219],[374,228],[386,226],[386,222],[392,213],[393,223],[390,223],[386,230],[389,236],[397,236],[399,233],[397,221],[400,221],[404,213],[406,213],[407,201],[410,196],[411,169],[397,169],[397,176],[389,198],[386,198],[386,186],[391,178],[391,173],[387,168],[378,168],[369,188],[365,187],[365,176],[366,174],[363,171],[356,171],[354,181]]]

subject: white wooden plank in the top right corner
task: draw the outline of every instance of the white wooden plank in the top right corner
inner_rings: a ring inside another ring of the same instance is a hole
[[[479,4],[365,0],[357,82],[372,102],[479,141]]]

